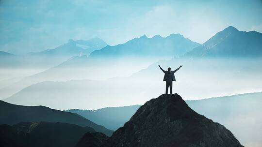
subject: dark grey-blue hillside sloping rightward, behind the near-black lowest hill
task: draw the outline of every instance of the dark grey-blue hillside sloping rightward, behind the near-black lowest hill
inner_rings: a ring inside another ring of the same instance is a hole
[[[111,135],[113,131],[77,114],[50,109],[45,106],[22,106],[0,101],[0,124],[14,125],[19,122],[64,122],[82,127],[91,127],[96,132]]]

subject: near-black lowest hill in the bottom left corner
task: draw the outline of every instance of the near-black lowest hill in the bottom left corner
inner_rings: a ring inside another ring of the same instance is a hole
[[[1,147],[74,147],[86,132],[96,132],[61,122],[20,122],[0,125]]]

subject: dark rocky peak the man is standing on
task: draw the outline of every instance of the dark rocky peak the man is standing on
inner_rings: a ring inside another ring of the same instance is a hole
[[[178,94],[163,94],[142,105],[123,127],[97,147],[243,146],[228,129],[197,114]]]

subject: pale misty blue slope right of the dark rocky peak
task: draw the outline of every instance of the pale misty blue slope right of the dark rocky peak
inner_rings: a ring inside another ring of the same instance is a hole
[[[225,125],[245,147],[261,147],[262,92],[186,103],[197,113]]]

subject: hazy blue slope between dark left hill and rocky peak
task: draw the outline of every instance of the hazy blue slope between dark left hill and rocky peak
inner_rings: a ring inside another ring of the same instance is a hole
[[[117,130],[131,118],[140,106],[141,105],[107,107],[97,110],[70,109],[66,110],[66,112],[79,114],[82,117],[88,118],[96,124],[105,126],[110,130]]]

